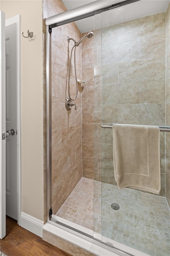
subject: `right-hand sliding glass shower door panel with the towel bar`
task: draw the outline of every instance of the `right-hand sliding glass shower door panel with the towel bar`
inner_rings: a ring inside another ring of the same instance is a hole
[[[97,46],[101,61],[101,123],[164,126],[166,13],[124,21],[124,11],[126,6],[101,14],[101,46]],[[106,26],[108,20],[111,25]],[[101,241],[134,255],[137,251],[142,255],[169,255],[164,132],[160,132],[159,195],[118,188],[112,128],[99,125],[98,133]]]

